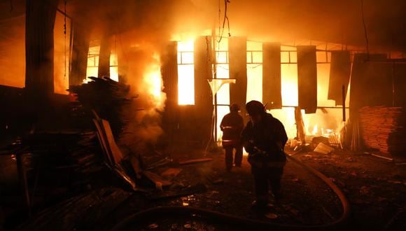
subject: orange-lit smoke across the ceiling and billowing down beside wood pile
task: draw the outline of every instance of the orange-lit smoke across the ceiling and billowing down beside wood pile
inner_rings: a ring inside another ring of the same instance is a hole
[[[370,48],[406,50],[405,5],[402,0],[365,1]],[[162,133],[159,125],[165,95],[160,64],[168,41],[210,34],[213,28],[217,31],[225,8],[224,1],[214,0],[86,0],[69,1],[67,12],[92,31],[92,38],[114,36],[119,65],[127,66],[127,83],[132,94],[138,95],[128,113],[134,121],[129,126],[132,135],[123,140],[153,143]],[[230,34],[251,40],[295,41],[296,45],[301,40],[318,40],[361,47],[365,43],[358,1],[230,0],[227,15]],[[0,22],[0,84],[24,86],[24,26],[24,17]],[[55,24],[55,28],[61,27]],[[55,41],[55,49],[61,45],[60,39]],[[59,59],[55,62],[55,90],[64,91],[64,65],[57,50],[55,59]]]

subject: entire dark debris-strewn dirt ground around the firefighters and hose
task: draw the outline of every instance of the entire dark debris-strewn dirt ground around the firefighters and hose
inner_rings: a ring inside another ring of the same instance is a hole
[[[405,165],[395,165],[394,162],[371,155],[345,151],[334,151],[328,155],[295,153],[293,157],[318,169],[344,192],[351,203],[348,224],[351,230],[406,230]],[[211,153],[173,152],[171,158],[213,160],[152,169],[156,174],[172,180],[172,186],[164,187],[163,191],[154,189],[151,184],[144,184],[140,185],[140,189],[145,190],[145,193],[132,193],[109,185],[110,181],[105,179],[105,183],[93,185],[87,193],[66,202],[71,210],[58,204],[34,216],[29,223],[38,225],[52,222],[49,227],[55,228],[59,224],[61,230],[68,227],[69,230],[110,230],[131,214],[162,206],[198,207],[257,221],[294,225],[330,223],[342,214],[341,204],[332,190],[293,161],[287,162],[284,169],[282,200],[275,202],[272,195],[269,195],[271,207],[267,211],[258,212],[251,207],[255,197],[253,177],[246,156],[242,167],[233,167],[231,172],[225,171],[222,149]],[[177,195],[188,190],[193,193]],[[64,209],[59,211],[60,208]],[[247,229],[193,214],[165,214],[149,217],[134,227],[129,227],[129,230]]]

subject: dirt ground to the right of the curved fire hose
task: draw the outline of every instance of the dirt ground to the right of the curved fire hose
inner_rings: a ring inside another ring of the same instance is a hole
[[[365,230],[406,230],[406,165],[365,153],[295,155],[318,169],[351,203],[351,225]]]

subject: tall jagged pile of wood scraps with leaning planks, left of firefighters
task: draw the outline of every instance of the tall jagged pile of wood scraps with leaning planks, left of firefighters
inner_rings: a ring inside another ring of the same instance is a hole
[[[89,83],[73,86],[69,91],[76,95],[80,103],[76,106],[87,111],[92,118],[105,165],[132,190],[144,191],[143,184],[148,181],[148,185],[152,183],[155,186],[155,191],[162,191],[174,184],[175,177],[181,172],[181,166],[212,160],[204,158],[174,161],[149,146],[141,148],[143,151],[134,148],[125,137],[127,132],[136,133],[134,130],[137,130],[137,126],[133,125],[137,121],[134,121],[133,113],[141,109],[138,102],[130,97],[129,86],[109,78],[90,79],[92,81]],[[128,131],[129,127],[131,131]],[[160,174],[162,169],[168,167],[180,170]]]

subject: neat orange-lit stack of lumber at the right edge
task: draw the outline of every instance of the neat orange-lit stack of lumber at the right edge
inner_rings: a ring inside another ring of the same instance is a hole
[[[366,106],[359,110],[359,116],[365,146],[391,155],[406,151],[405,109]]]

